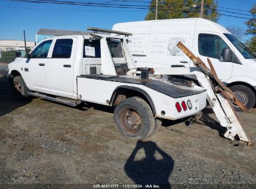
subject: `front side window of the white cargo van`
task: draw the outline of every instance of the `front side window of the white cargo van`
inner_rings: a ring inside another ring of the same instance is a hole
[[[229,48],[229,46],[218,35],[199,34],[198,51],[200,55],[219,59],[224,48]]]

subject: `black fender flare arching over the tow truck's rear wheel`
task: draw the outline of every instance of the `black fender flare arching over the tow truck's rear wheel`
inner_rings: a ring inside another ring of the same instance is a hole
[[[156,108],[154,107],[153,100],[151,99],[149,94],[146,91],[142,90],[141,88],[138,88],[138,87],[135,87],[135,86],[120,85],[120,86],[116,87],[115,91],[113,91],[112,96],[110,98],[110,105],[113,105],[113,100],[115,99],[116,91],[120,88],[138,91],[139,93],[143,94],[146,97],[146,99],[149,101],[150,106],[153,110],[153,114],[154,115],[156,114]]]

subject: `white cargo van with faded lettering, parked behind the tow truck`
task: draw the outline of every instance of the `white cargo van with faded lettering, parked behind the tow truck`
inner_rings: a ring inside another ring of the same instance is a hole
[[[221,25],[199,18],[169,19],[118,23],[113,30],[133,34],[128,45],[137,67],[173,67],[176,75],[194,70],[191,60],[176,46],[183,42],[204,62],[211,59],[220,80],[247,109],[255,105],[256,58]]]

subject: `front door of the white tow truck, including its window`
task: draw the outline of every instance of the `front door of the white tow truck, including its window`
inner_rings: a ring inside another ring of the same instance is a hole
[[[30,90],[47,90],[45,70],[51,44],[52,40],[45,40],[37,45],[22,68],[24,69],[24,80]]]

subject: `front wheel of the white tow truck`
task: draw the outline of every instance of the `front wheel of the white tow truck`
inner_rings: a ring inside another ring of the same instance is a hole
[[[23,80],[22,76],[15,76],[13,78],[12,89],[14,93],[14,97],[17,99],[26,99],[27,92],[29,91],[25,81]]]

